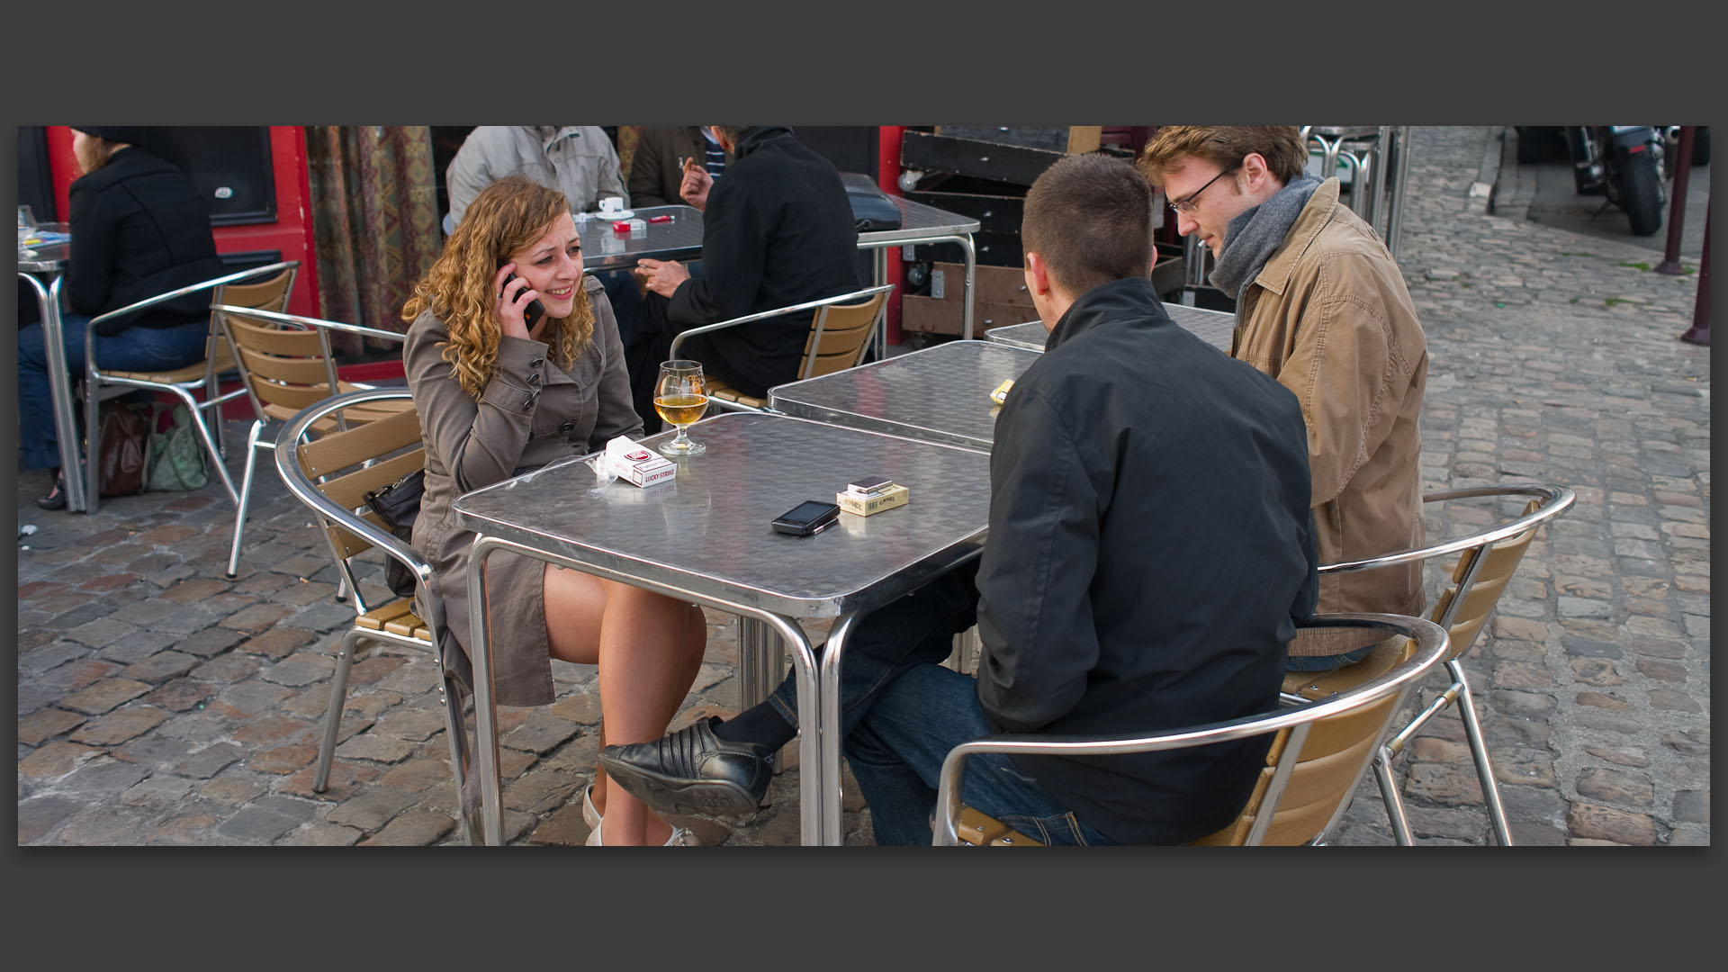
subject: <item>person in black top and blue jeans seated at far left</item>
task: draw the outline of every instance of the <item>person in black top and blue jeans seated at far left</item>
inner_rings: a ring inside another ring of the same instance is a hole
[[[83,175],[73,182],[73,249],[66,270],[60,332],[66,367],[85,372],[90,318],[168,291],[221,277],[209,209],[192,180],[137,147],[135,126],[73,128],[73,154]],[[119,370],[169,370],[204,358],[209,294],[190,294],[105,322],[95,336],[97,361]],[[54,489],[36,500],[66,505],[59,439],[48,398],[41,322],[17,332],[19,436],[28,469],[54,469]]]

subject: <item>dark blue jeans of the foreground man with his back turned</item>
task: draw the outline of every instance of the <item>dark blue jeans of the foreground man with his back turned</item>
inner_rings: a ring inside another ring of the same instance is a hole
[[[949,749],[990,735],[971,676],[938,662],[978,619],[978,562],[859,619],[840,666],[840,739],[878,844],[930,844],[937,777]],[[769,702],[798,725],[791,673]],[[961,799],[1047,844],[1111,844],[1006,756],[966,761]]]

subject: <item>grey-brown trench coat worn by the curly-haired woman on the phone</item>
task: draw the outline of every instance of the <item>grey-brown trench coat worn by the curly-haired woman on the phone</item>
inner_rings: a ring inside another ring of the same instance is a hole
[[[600,282],[584,277],[594,304],[594,339],[569,372],[546,358],[546,344],[501,337],[498,374],[480,398],[456,384],[444,361],[444,323],[422,313],[408,329],[403,361],[408,389],[420,410],[427,446],[425,496],[415,521],[413,547],[430,564],[444,597],[444,666],[473,685],[468,662],[468,548],[473,533],[456,526],[451,502],[546,465],[603,450],[613,436],[638,438],[643,422],[631,406],[629,374],[612,304]],[[499,706],[544,706],[553,700],[546,654],[546,607],[541,602],[546,564],[508,552],[486,560],[491,605],[494,699]],[[418,605],[425,616],[423,604]]]

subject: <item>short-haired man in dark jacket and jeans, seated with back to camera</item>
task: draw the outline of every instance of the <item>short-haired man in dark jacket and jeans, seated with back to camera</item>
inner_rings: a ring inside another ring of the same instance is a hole
[[[964,740],[1277,707],[1318,592],[1306,429],[1286,387],[1170,322],[1147,280],[1151,204],[1128,163],[1097,154],[1026,194],[1026,289],[1051,339],[997,417],[990,540],[976,567],[862,617],[842,666],[843,749],[878,844],[930,842],[937,773]],[[976,680],[938,664],[975,617]],[[746,813],[795,713],[788,676],[729,721],[608,745],[601,764],[657,809]],[[1177,844],[1236,818],[1268,740],[980,756],[962,799],[1045,842]]]

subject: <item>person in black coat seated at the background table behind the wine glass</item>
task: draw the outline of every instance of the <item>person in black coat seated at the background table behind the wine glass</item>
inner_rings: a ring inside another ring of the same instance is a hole
[[[684,265],[643,259],[636,275],[648,289],[643,323],[626,336],[631,393],[646,431],[658,429],[653,384],[672,337],[719,323],[859,289],[857,228],[835,164],[807,149],[783,125],[712,128],[736,161],[717,182],[693,173],[684,201],[702,209],[702,277]],[[712,185],[712,194],[708,187]],[[745,394],[798,377],[810,317],[759,320],[691,337],[679,356]]]

